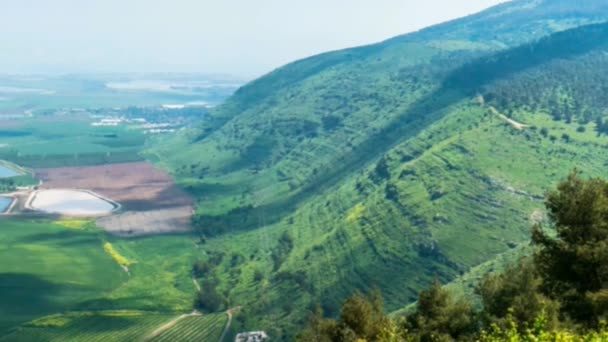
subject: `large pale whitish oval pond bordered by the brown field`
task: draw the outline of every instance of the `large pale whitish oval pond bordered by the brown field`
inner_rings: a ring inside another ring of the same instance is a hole
[[[112,213],[119,205],[89,191],[57,189],[34,192],[28,207],[50,214],[101,216]]]

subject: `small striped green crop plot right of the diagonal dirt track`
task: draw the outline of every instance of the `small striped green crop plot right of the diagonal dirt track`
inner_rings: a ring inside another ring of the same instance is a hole
[[[217,341],[225,325],[224,314],[187,317],[159,335],[153,342]]]

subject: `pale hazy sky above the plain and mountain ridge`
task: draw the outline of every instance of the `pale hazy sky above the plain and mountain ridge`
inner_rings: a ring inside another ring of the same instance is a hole
[[[0,72],[255,76],[501,0],[0,0]]]

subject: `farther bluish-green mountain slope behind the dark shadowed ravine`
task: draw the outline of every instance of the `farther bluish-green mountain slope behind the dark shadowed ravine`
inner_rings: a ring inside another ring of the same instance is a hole
[[[159,154],[208,199],[201,203],[206,214],[261,204],[272,212],[290,211],[404,135],[416,134],[403,125],[408,106],[464,61],[608,18],[608,6],[586,3],[588,8],[562,1],[510,3],[381,44],[293,63],[241,88],[203,128]],[[387,130],[394,136],[385,138]]]

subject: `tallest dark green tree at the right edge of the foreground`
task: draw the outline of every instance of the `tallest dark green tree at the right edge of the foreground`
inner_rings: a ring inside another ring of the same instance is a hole
[[[548,195],[555,237],[536,226],[543,291],[571,319],[596,325],[608,313],[608,183],[574,171]]]

